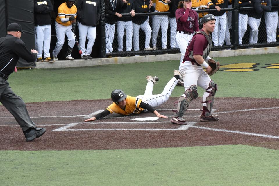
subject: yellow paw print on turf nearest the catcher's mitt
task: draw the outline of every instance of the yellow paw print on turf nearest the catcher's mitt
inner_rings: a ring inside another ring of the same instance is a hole
[[[260,63],[234,63],[228,65],[221,65],[220,71],[226,72],[251,72],[251,71],[258,71],[256,67]],[[222,69],[221,69],[222,68]]]

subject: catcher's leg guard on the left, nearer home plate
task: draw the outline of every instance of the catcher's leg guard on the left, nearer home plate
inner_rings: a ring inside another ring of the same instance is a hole
[[[182,117],[184,112],[187,111],[190,102],[193,101],[194,99],[196,99],[198,97],[198,87],[196,85],[192,85],[190,87],[190,89],[187,89],[185,91],[185,96],[181,96],[178,99],[178,104],[177,104],[177,110],[176,110],[176,114],[174,116],[178,116],[178,117]]]

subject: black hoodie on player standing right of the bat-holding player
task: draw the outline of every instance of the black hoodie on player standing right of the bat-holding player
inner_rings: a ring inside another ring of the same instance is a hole
[[[78,0],[77,19],[87,26],[97,26],[101,15],[100,0]]]

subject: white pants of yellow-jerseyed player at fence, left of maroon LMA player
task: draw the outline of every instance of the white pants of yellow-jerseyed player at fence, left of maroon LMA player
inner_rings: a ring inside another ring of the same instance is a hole
[[[169,26],[169,19],[167,15],[154,15],[152,18],[152,46],[157,44],[157,36],[161,26],[162,30],[162,48],[167,48],[167,31]]]

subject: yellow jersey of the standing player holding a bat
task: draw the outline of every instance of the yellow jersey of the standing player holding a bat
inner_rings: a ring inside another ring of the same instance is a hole
[[[57,14],[57,17],[55,19],[55,21],[61,25],[64,25],[64,26],[69,26],[72,24],[72,21],[68,21],[68,22],[65,22],[63,23],[61,21],[61,18],[69,18],[71,17],[71,15],[74,15],[75,18],[76,18],[76,5],[73,5],[71,7],[71,9],[69,7],[67,7],[66,3],[62,3],[59,7],[58,7],[58,14]]]

